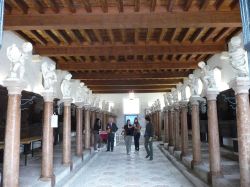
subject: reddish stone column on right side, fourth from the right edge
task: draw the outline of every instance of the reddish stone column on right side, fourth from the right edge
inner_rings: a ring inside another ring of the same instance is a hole
[[[188,154],[187,102],[181,103],[181,156]]]

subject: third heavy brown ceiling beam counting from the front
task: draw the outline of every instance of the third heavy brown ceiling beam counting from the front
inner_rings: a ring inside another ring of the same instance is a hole
[[[63,62],[57,63],[57,68],[69,71],[83,71],[83,70],[152,70],[152,69],[195,69],[197,63],[135,63],[135,62],[116,62],[116,63],[104,63],[104,62]]]

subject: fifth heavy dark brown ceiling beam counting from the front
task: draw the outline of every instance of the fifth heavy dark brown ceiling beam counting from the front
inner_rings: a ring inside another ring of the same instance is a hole
[[[136,85],[171,85],[174,86],[179,82],[182,82],[183,78],[176,79],[130,79],[130,80],[83,80],[83,82],[88,86],[112,86],[112,85],[121,85],[121,86],[136,86]]]

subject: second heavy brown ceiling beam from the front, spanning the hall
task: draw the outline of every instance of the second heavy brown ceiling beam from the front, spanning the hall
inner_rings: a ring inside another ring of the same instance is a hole
[[[211,54],[226,50],[224,43],[148,44],[148,45],[60,45],[35,46],[35,52],[45,56],[119,56],[162,54]]]

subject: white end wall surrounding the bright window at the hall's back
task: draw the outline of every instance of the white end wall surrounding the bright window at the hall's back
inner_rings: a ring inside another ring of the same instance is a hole
[[[123,114],[123,98],[128,98],[128,93],[126,94],[97,94],[101,100],[106,100],[114,102],[114,112],[117,115],[117,125],[121,127],[124,125],[124,114]],[[161,106],[164,107],[163,93],[135,93],[135,98],[139,98],[140,103],[140,113],[139,121],[144,126],[144,113],[145,108],[148,107],[148,103],[152,103],[157,99],[160,99]]]

